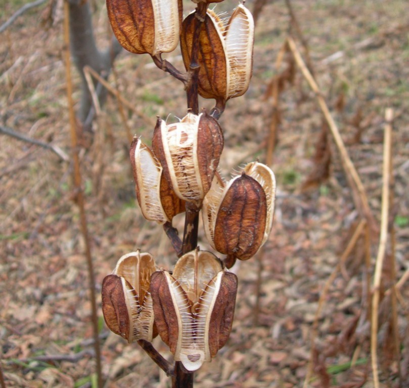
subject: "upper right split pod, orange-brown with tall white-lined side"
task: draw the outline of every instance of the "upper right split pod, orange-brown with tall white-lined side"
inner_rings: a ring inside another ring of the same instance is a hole
[[[180,47],[186,69],[191,61],[195,19],[192,13],[182,23]],[[208,10],[199,41],[199,94],[223,104],[244,94],[252,75],[254,44],[254,21],[247,8],[239,5],[226,24]]]

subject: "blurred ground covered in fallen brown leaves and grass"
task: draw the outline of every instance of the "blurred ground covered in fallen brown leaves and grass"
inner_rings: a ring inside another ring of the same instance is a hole
[[[70,153],[62,8],[53,20],[48,6],[20,17],[0,36],[0,125]],[[0,23],[21,4],[8,2]],[[233,8],[230,0],[218,6]],[[252,9],[253,4],[248,4]],[[297,0],[292,6],[309,47],[311,64],[349,155],[366,189],[375,224],[371,257],[365,241],[327,281],[360,221],[332,140],[323,140],[323,115],[294,63],[275,61],[288,36],[285,2],[269,2],[255,36],[254,73],[244,97],[220,119],[225,149],[222,174],[259,158],[272,121],[268,84],[283,76],[274,161],[278,193],[272,233],[258,257],[236,264],[239,292],[231,338],[195,376],[197,387],[372,387],[370,358],[371,282],[381,217],[384,114],[394,110],[394,268],[388,243],[379,309],[381,386],[409,386],[409,288],[398,293],[399,351],[393,351],[388,289],[409,267],[409,24],[407,2]],[[193,8],[193,7],[191,7]],[[216,8],[217,10],[217,8]],[[106,10],[95,10],[96,34],[107,44]],[[300,41],[297,46],[302,50]],[[183,66],[180,56],[167,57]],[[155,116],[183,117],[181,84],[146,56],[122,53],[115,63],[130,131],[149,143]],[[74,99],[80,95],[75,70]],[[109,78],[111,85],[115,80]],[[202,101],[210,108],[211,101]],[[135,204],[128,138],[117,102],[109,97],[94,133],[81,137],[80,159],[97,294],[124,253],[141,248],[158,263],[175,261],[159,226],[144,221]],[[7,387],[91,386],[95,379],[84,244],[73,202],[72,163],[48,149],[0,135],[0,349]],[[321,142],[319,142],[321,139]],[[317,153],[316,144],[319,143]],[[321,156],[320,156],[321,155]],[[323,157],[323,155],[326,155]],[[178,218],[180,228],[183,219]],[[201,235],[200,246],[208,247]],[[389,240],[390,241],[390,240]],[[317,319],[319,298],[328,286]],[[259,297],[257,297],[259,295]],[[167,377],[140,348],[108,332],[98,297],[106,387],[166,387]],[[314,323],[315,321],[315,323]],[[315,334],[314,350],[311,336]],[[154,345],[169,359],[159,339]],[[47,357],[45,357],[47,356]],[[45,358],[44,358],[45,357]],[[308,368],[312,373],[305,382]]]

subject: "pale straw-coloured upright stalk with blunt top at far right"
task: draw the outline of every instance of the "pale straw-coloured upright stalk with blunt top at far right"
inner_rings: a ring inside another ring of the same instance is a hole
[[[374,376],[374,387],[379,388],[379,370],[378,370],[378,313],[380,300],[380,287],[382,277],[382,267],[386,252],[386,243],[388,238],[388,220],[389,220],[389,184],[390,184],[390,162],[391,162],[391,144],[392,144],[392,109],[386,109],[385,136],[383,147],[383,173],[382,173],[382,207],[381,207],[381,230],[379,236],[378,255],[375,264],[374,274],[374,294],[372,296],[372,325],[371,325],[371,359],[372,372]]]

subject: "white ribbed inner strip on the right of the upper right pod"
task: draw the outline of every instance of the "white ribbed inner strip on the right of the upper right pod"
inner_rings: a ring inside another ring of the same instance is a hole
[[[245,7],[239,5],[229,21],[225,34],[228,98],[241,95],[248,88],[252,72],[253,43],[253,17]]]

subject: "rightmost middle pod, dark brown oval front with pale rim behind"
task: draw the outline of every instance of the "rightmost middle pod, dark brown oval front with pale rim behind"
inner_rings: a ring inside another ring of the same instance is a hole
[[[274,214],[276,181],[264,164],[248,164],[223,189],[215,183],[203,201],[206,237],[230,262],[254,256],[267,240]]]

